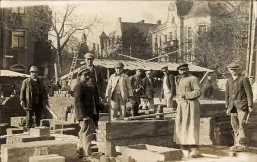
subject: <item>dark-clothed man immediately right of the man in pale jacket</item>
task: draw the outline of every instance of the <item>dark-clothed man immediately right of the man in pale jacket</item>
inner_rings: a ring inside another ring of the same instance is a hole
[[[136,69],[136,74],[130,76],[130,82],[131,82],[131,87],[133,91],[133,98],[135,100],[135,104],[133,104],[133,116],[138,116],[138,110],[139,110],[139,105],[141,103],[140,101],[140,95],[142,94],[142,69]]]

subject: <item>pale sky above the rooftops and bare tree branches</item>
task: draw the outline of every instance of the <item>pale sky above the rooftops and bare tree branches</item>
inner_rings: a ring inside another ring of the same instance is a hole
[[[168,7],[171,1],[6,1],[2,0],[1,7],[49,5],[55,11],[64,12],[66,3],[80,4],[74,14],[87,17],[90,22],[95,16],[102,24],[87,35],[88,44],[98,43],[99,35],[104,31],[108,33],[115,30],[116,20],[121,17],[122,22],[138,22],[143,19],[145,23],[155,24],[158,20],[165,22]],[[76,34],[81,40],[81,34]],[[54,39],[49,36],[50,39]]]

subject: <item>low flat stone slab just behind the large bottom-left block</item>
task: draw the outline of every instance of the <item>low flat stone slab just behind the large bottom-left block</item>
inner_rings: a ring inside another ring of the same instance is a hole
[[[54,140],[54,136],[31,136],[31,135],[14,135],[12,137],[7,137],[7,144],[19,144],[28,143],[32,141],[42,141],[42,140]]]

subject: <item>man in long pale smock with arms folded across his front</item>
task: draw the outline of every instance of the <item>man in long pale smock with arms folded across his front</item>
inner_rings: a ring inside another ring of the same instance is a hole
[[[189,73],[188,64],[177,67],[181,75],[177,91],[177,113],[175,117],[175,142],[181,149],[189,149],[189,156],[199,156],[199,129],[201,88],[197,77]],[[187,148],[189,147],[189,148]]]

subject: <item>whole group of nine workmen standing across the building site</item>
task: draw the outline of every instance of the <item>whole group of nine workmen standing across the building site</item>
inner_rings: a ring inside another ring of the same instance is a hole
[[[78,72],[77,84],[74,87],[76,119],[79,121],[78,157],[87,160],[91,156],[90,143],[93,139],[94,128],[97,127],[98,114],[104,108],[103,100],[110,103],[112,120],[126,114],[126,103],[133,105],[133,115],[138,115],[140,98],[145,103],[153,104],[156,93],[155,79],[152,71],[145,72],[146,77],[141,78],[141,69],[136,69],[136,74],[128,77],[123,72],[124,65],[120,62],[114,65],[115,73],[109,77],[104,94],[104,77],[99,67],[95,66],[95,56],[85,54],[86,65]],[[230,64],[228,67],[231,78],[226,85],[226,109],[231,116],[231,125],[235,136],[233,151],[244,151],[246,135],[243,120],[248,113],[253,111],[253,92],[249,79],[240,74],[240,66]],[[199,154],[199,128],[200,128],[200,103],[201,96],[199,79],[189,73],[188,64],[177,67],[180,74],[178,84],[168,67],[161,68],[163,72],[161,97],[162,104],[168,108],[173,107],[173,97],[177,98],[175,115],[175,143],[181,149],[190,151],[191,157]],[[35,125],[39,126],[42,110],[48,105],[45,87],[38,78],[38,69],[34,66],[29,71],[31,77],[24,80],[21,89],[21,105],[27,113],[27,128],[32,125],[32,114],[35,114]],[[254,92],[256,93],[256,92]],[[119,115],[118,115],[119,112]],[[117,128],[118,129],[118,128]],[[128,132],[129,133],[129,132]],[[171,139],[173,140],[173,139]]]

